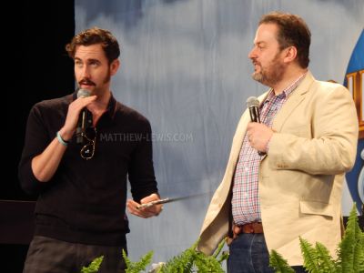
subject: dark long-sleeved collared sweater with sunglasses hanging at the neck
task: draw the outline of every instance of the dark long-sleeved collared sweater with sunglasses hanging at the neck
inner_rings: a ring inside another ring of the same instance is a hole
[[[74,137],[56,174],[38,181],[32,158],[45,150],[65,124],[76,93],[42,101],[28,117],[19,179],[26,192],[38,193],[35,235],[73,243],[121,246],[129,232],[126,218],[126,177],[136,201],[157,193],[147,118],[112,96],[96,124],[95,156],[80,157],[83,145]]]

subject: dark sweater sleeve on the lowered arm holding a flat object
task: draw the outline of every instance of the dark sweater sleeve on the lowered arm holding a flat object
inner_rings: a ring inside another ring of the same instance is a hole
[[[128,178],[133,199],[139,202],[143,197],[157,193],[157,181],[153,167],[152,131],[147,119],[140,120],[141,136],[131,156]]]

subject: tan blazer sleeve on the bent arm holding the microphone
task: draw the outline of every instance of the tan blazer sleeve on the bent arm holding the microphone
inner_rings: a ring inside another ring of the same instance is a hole
[[[268,164],[272,169],[336,175],[353,167],[359,131],[353,99],[344,86],[322,88],[325,89],[321,86],[314,90],[316,93],[308,106],[312,111],[308,125],[311,137],[285,133],[284,128],[271,137]]]

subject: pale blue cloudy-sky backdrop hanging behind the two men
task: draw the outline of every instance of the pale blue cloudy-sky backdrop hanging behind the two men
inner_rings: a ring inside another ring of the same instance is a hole
[[[272,10],[307,21],[311,71],[342,83],[364,25],[361,0],[76,0],[76,33],[97,25],[122,46],[112,90],[151,122],[162,197],[205,194],[167,204],[159,217],[129,216],[132,259],[153,249],[155,262],[166,261],[197,240],[245,101],[267,89],[251,79],[248,52]]]

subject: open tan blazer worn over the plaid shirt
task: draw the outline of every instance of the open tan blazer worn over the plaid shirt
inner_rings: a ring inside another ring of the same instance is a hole
[[[260,102],[268,92],[258,99]],[[197,248],[211,254],[227,236],[230,187],[250,116],[238,123],[227,169],[207,210]],[[308,72],[272,126],[259,167],[258,196],[268,250],[302,265],[298,237],[323,243],[332,255],[341,238],[341,189],[353,167],[358,117],[349,91]]]

